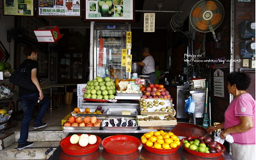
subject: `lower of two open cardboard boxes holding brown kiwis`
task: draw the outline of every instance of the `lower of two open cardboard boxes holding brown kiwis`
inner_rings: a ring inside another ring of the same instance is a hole
[[[140,118],[148,118],[149,116],[155,117],[159,116],[161,120],[140,120]],[[171,120],[164,120],[164,116],[170,116]],[[136,121],[139,126],[148,127],[148,126],[168,126],[168,125],[177,125],[177,120],[172,115],[137,115]]]

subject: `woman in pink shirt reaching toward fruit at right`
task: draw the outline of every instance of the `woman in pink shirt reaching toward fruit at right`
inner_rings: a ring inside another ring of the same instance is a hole
[[[224,129],[220,138],[230,134],[234,143],[230,144],[232,156],[239,160],[255,159],[255,100],[246,92],[251,79],[244,72],[232,72],[227,77],[228,92],[234,99],[225,111],[225,122],[212,125],[206,131]]]

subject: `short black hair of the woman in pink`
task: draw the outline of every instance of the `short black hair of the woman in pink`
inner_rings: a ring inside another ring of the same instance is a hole
[[[236,84],[237,90],[247,90],[251,83],[251,78],[244,72],[232,72],[227,77],[230,86]]]

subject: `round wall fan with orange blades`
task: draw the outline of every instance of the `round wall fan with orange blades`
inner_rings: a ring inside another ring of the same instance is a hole
[[[219,1],[199,1],[193,6],[189,17],[193,28],[203,33],[211,31],[214,40],[218,42],[214,29],[218,28],[224,19],[224,8]]]

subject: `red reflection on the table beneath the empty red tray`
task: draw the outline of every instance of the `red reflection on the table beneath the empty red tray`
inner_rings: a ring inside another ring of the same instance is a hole
[[[107,152],[106,150],[102,150],[101,156],[106,160],[136,160],[140,157],[140,150],[136,150],[132,154],[126,155],[109,154],[109,152]]]

